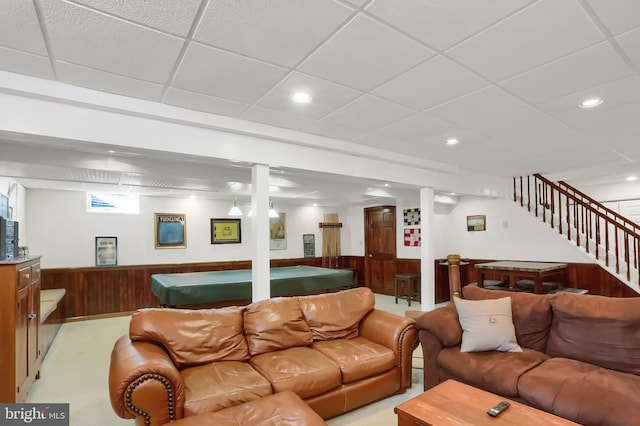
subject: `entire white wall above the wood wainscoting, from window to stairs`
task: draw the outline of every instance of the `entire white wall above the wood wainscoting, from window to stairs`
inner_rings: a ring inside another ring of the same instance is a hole
[[[0,182],[1,184],[1,182]],[[141,197],[139,215],[87,213],[83,192],[28,190],[26,224],[31,254],[43,256],[43,267],[86,267],[95,265],[95,237],[118,237],[120,265],[213,262],[251,259],[250,218],[242,218],[242,243],[212,245],[210,219],[227,217],[231,200],[198,200],[161,197]],[[364,256],[365,207],[321,209],[276,203],[286,214],[287,249],[272,250],[273,259],[303,257],[302,234],[315,234],[316,256],[322,254],[322,232],[318,223],[324,213],[338,213],[342,228],[342,254]],[[420,247],[403,243],[404,208],[398,205],[397,253],[400,258],[419,259]],[[187,214],[187,248],[155,249],[153,214]],[[450,253],[462,257],[509,260],[592,262],[565,238],[552,231],[519,205],[508,199],[461,197],[456,205],[436,204],[434,254],[437,258]],[[487,230],[468,232],[466,217],[484,214]],[[424,235],[424,234],[423,234]]]

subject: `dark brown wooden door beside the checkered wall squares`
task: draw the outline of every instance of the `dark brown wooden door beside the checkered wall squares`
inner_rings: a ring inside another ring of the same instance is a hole
[[[396,275],[396,208],[364,209],[365,282],[374,293],[393,295]]]

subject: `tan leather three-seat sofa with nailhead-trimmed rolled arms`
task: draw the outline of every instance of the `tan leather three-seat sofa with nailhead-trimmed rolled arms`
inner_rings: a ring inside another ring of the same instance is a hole
[[[115,412],[163,425],[292,391],[327,419],[411,386],[415,320],[368,288],[219,309],[141,309],[111,354]]]

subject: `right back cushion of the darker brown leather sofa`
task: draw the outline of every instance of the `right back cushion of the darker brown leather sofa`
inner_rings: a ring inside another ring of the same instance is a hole
[[[549,355],[640,375],[640,298],[556,293],[551,306]]]

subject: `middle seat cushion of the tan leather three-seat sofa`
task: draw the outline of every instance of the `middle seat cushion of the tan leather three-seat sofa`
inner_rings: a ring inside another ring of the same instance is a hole
[[[249,362],[271,382],[274,392],[289,390],[301,398],[309,398],[341,385],[338,365],[315,349],[297,347],[267,352]]]

